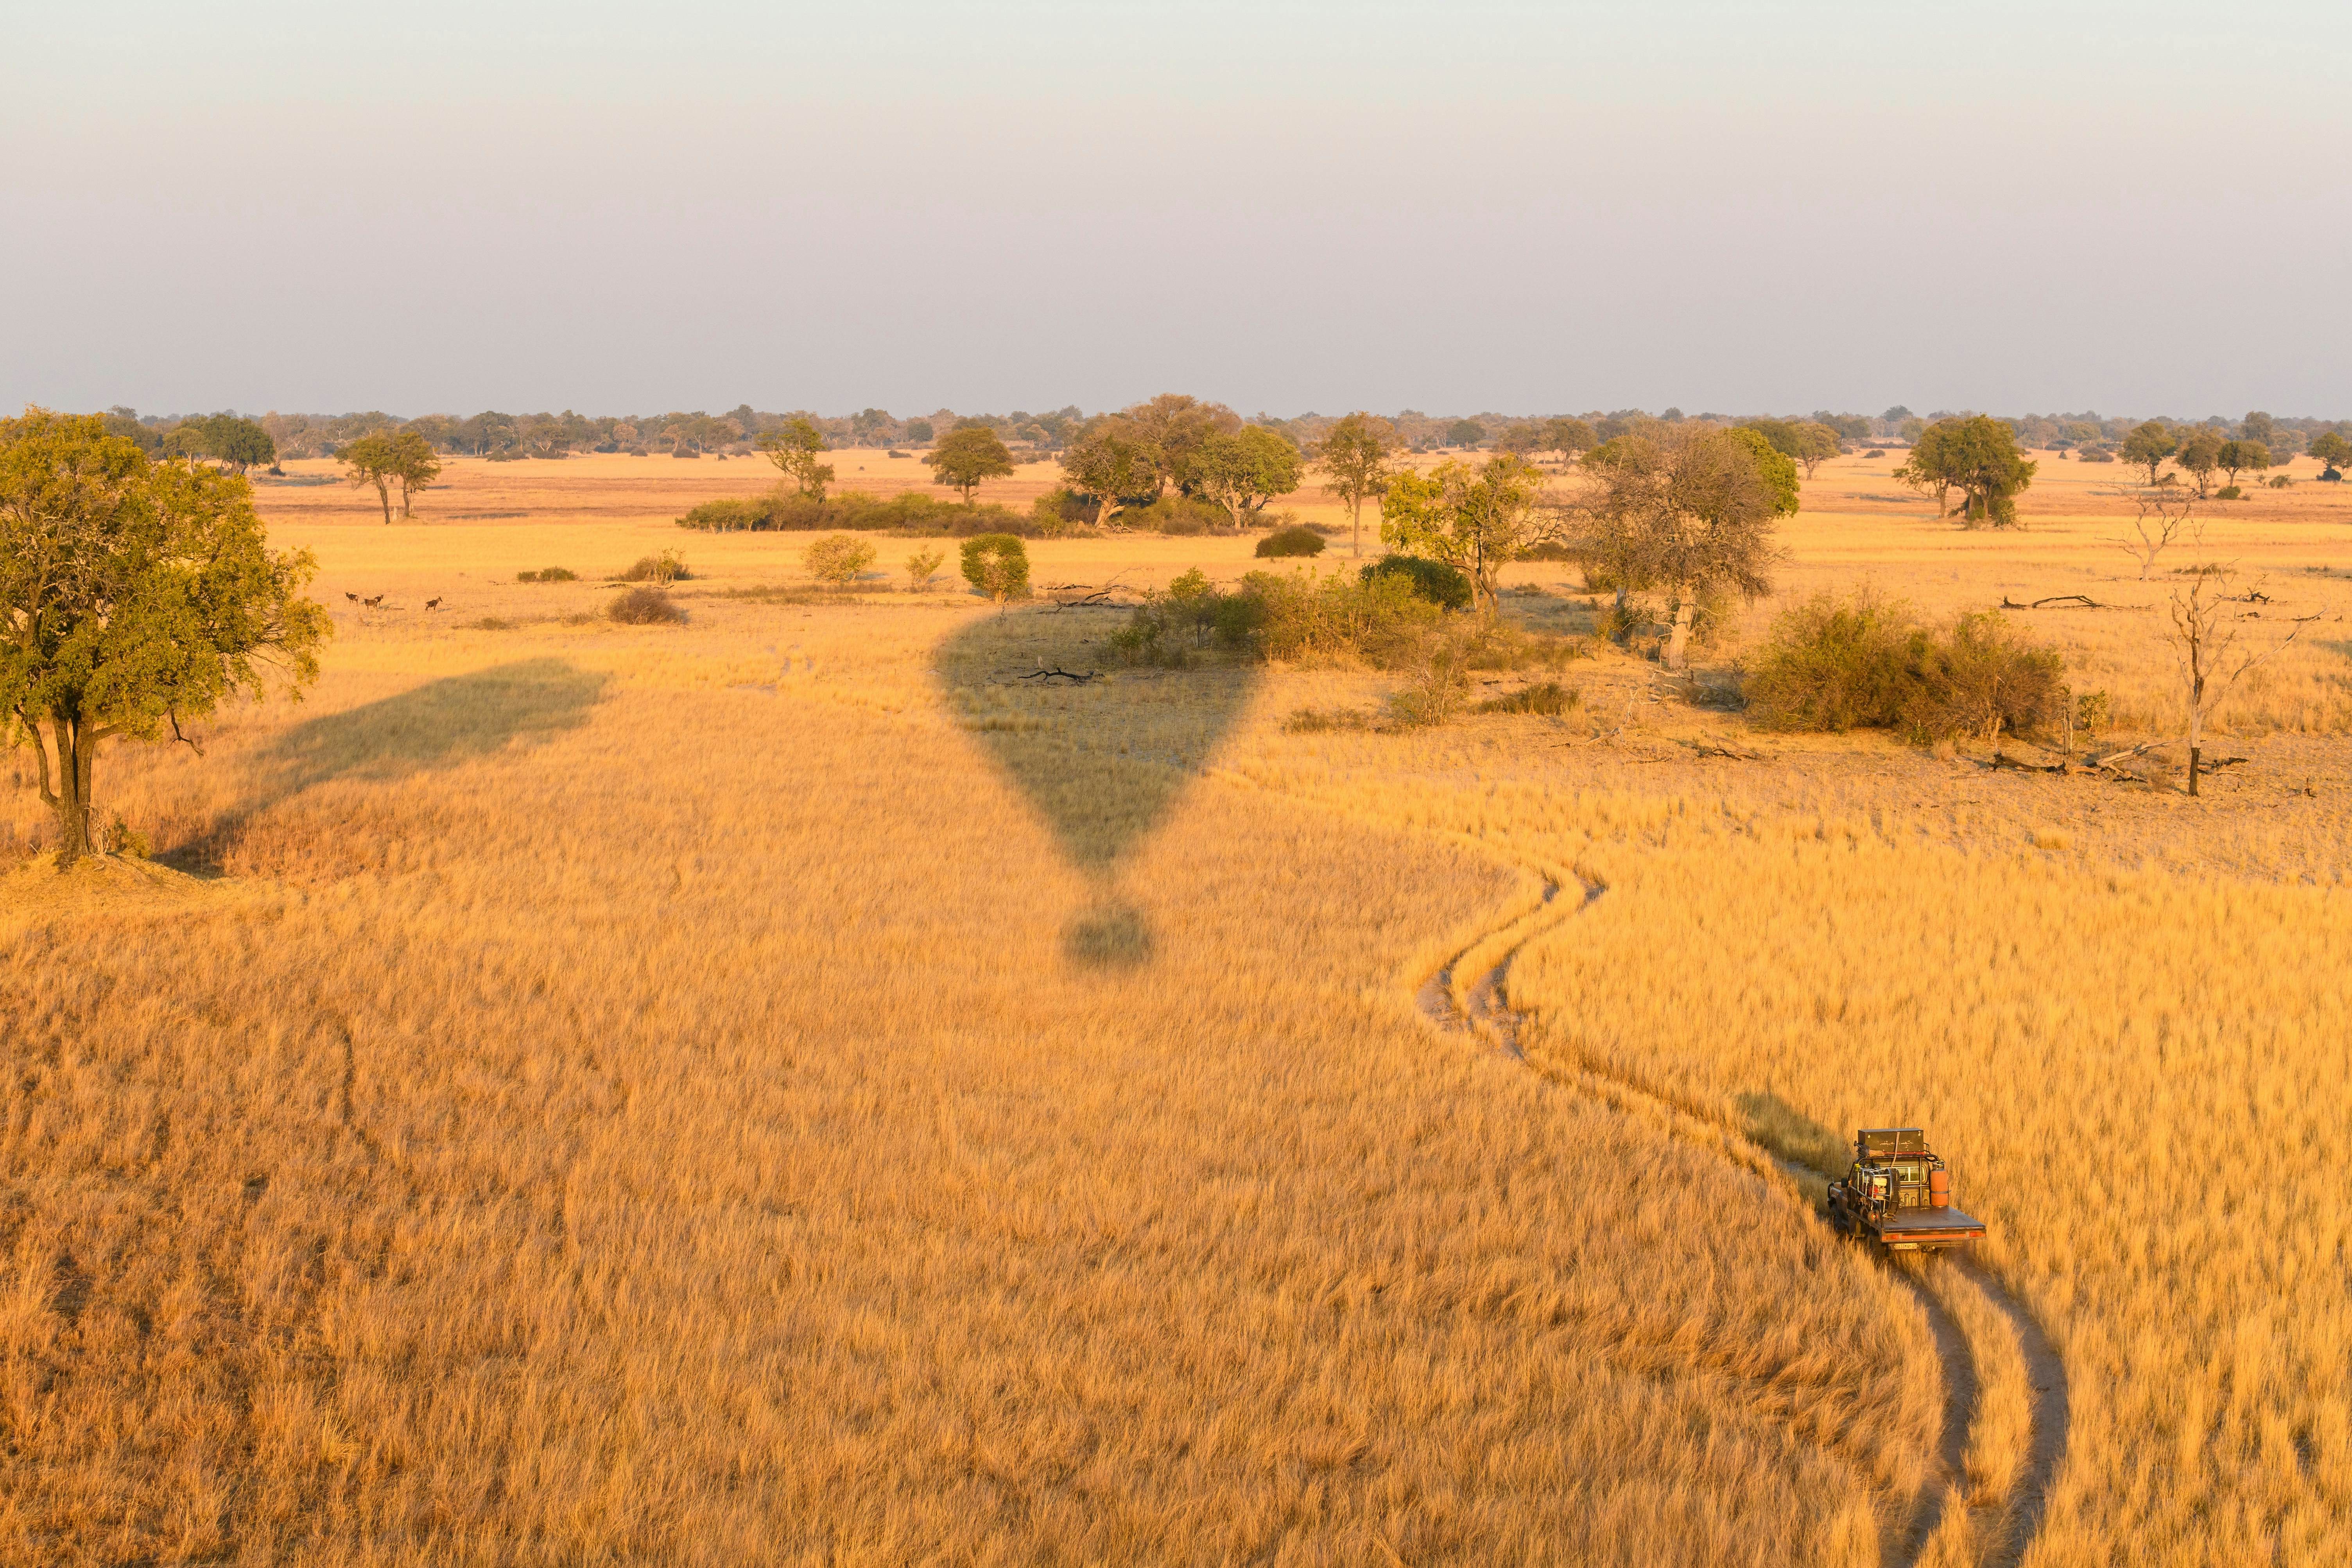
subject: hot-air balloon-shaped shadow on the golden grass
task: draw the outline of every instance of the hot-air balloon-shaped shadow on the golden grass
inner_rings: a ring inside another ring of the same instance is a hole
[[[950,637],[936,663],[964,731],[1096,884],[1094,907],[1063,931],[1063,954],[1080,969],[1150,961],[1152,931],[1117,898],[1120,870],[1209,764],[1256,684],[1256,668],[1242,663],[1122,670],[1108,654],[1117,625],[1105,611],[985,616]],[[1105,679],[1037,675],[1056,668]]]

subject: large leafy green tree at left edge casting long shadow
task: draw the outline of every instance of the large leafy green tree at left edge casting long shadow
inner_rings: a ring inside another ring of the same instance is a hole
[[[268,548],[242,475],[153,463],[94,414],[0,421],[0,712],[38,757],[59,870],[94,849],[103,741],[188,741],[273,665],[296,698],[318,679],[315,569]]]

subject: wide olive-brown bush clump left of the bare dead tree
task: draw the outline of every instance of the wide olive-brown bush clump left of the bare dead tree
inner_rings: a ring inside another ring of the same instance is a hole
[[[1785,611],[1748,675],[1750,712],[1773,729],[1900,729],[1915,741],[2032,733],[2060,717],[2065,665],[1997,611],[1945,630],[1870,590]]]

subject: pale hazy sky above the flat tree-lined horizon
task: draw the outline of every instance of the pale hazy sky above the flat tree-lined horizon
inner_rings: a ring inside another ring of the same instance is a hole
[[[0,404],[2352,414],[2352,7],[0,0]]]

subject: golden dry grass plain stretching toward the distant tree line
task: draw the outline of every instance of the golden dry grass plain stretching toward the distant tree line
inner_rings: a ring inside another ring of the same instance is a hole
[[[1247,534],[1000,611],[673,524],[755,463],[259,489],[308,698],[111,750],[153,858],[64,879],[0,764],[0,1559],[2352,1561],[2352,496],[2140,581],[2112,465],[2009,531],[1884,470],[1691,679],[1510,567],[1573,705],[1418,729],[1063,604]],[[661,550],[684,621],[602,618]],[[2303,632],[2197,799],[1710,696],[1820,588],[2086,595],[2013,618],[2171,733],[2199,559]],[[1863,1124],[1973,1260],[1825,1227]]]

